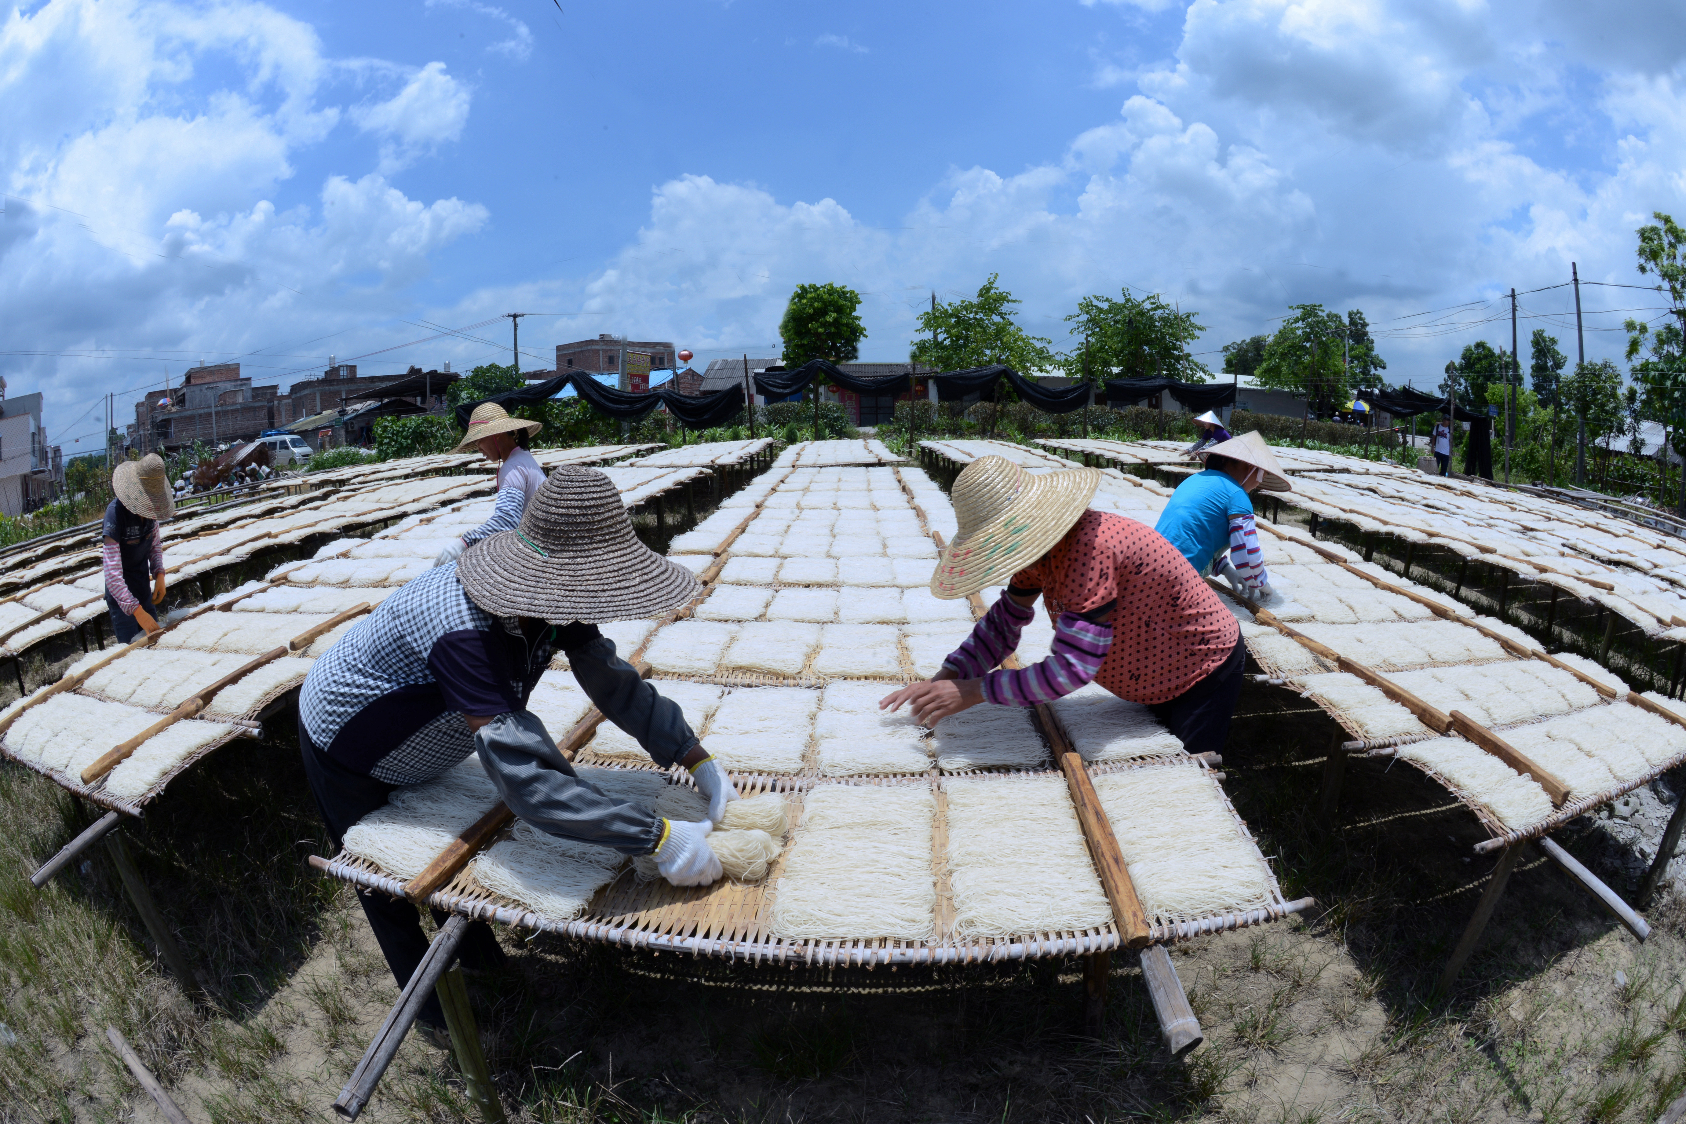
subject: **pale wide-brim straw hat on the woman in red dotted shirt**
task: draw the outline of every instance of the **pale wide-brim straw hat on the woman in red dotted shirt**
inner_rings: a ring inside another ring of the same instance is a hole
[[[1098,468],[1032,475],[1005,457],[980,457],[954,480],[954,541],[942,546],[931,593],[969,597],[1001,585],[1059,543],[1089,509]]]

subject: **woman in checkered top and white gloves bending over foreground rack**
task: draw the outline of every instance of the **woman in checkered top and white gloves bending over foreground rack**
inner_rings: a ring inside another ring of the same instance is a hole
[[[622,854],[654,854],[658,870],[679,886],[720,878],[706,836],[737,792],[679,706],[639,677],[597,630],[599,622],[671,612],[700,591],[690,570],[639,543],[609,477],[558,468],[519,527],[405,585],[305,676],[298,747],[334,846],[386,804],[393,789],[438,777],[477,753],[504,804],[540,831]],[[656,763],[690,768],[711,822],[669,821],[649,807],[619,804],[575,775],[528,709],[558,649],[609,721]],[[427,952],[415,908],[362,895],[362,910],[405,984]],[[477,923],[464,942],[464,961],[487,966],[499,957],[491,930]],[[422,1018],[443,1026],[437,999],[428,999]]]

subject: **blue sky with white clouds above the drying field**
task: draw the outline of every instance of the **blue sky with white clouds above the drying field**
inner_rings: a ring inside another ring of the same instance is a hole
[[[201,359],[460,369],[529,312],[529,369],[597,332],[700,366],[776,354],[803,281],[905,359],[932,290],[1000,273],[1055,345],[1126,285],[1209,352],[1361,307],[1433,386],[1509,344],[1512,285],[1640,281],[1634,229],[1686,217],[1683,54],[1649,0],[30,3],[0,12],[0,374],[79,452],[103,394]],[[1521,303],[1573,356],[1570,292]],[[1583,303],[1619,357],[1657,298]]]

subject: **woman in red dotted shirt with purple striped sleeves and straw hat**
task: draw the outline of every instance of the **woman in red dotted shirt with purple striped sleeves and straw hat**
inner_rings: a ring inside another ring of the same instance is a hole
[[[1241,629],[1153,527],[1089,511],[1099,479],[1094,468],[1030,475],[1003,457],[959,474],[959,529],[931,591],[958,598],[1001,581],[1007,591],[936,677],[880,708],[907,703],[931,726],[978,703],[1035,706],[1098,682],[1146,704],[1190,753],[1224,748],[1246,662]],[[991,671],[1018,647],[1039,597],[1054,617],[1049,657]]]

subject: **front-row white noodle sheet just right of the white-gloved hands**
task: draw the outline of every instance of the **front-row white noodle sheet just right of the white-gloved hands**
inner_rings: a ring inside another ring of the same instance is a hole
[[[786,940],[929,940],[929,787],[819,785],[774,890],[771,930]]]

